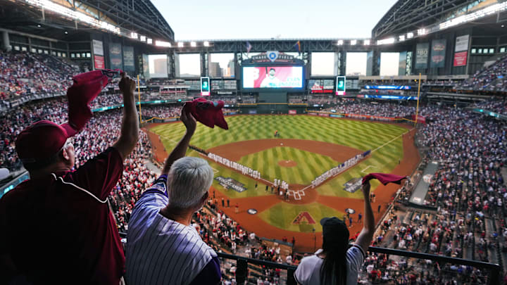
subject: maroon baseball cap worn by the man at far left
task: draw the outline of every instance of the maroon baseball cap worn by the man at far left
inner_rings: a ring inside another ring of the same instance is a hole
[[[41,120],[18,134],[15,141],[16,152],[23,163],[41,162],[61,151],[65,141],[76,133],[68,124],[57,125]]]

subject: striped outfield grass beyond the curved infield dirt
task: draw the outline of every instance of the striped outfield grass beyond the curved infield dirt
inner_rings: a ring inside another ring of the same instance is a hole
[[[342,144],[367,151],[399,136],[406,129],[378,122],[340,120],[306,115],[239,115],[226,118],[229,130],[198,124],[191,144],[208,149],[251,139],[273,139],[278,130],[284,139],[308,139]],[[182,123],[158,125],[151,131],[164,145],[175,145],[184,134]],[[166,147],[167,148],[167,147]]]

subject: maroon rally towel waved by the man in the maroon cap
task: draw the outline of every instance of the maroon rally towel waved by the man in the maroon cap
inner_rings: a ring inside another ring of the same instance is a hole
[[[84,72],[73,77],[73,85],[67,90],[68,122],[61,125],[72,137],[92,118],[88,104],[108,84],[108,77],[101,70]]]

